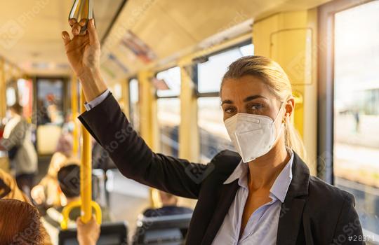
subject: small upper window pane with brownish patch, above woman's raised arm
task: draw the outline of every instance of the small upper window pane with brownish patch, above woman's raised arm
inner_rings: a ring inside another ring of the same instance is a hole
[[[177,97],[180,94],[180,67],[175,66],[157,73],[153,81],[158,97]]]

